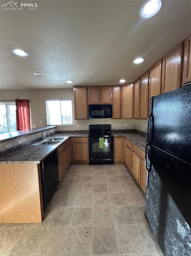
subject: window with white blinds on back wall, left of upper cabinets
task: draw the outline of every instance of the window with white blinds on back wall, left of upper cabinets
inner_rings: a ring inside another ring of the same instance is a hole
[[[72,125],[72,100],[46,100],[47,124]]]

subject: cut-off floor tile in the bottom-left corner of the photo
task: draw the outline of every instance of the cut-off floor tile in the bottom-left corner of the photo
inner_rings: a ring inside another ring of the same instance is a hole
[[[0,228],[0,255],[7,256],[17,239],[23,232],[23,228]]]

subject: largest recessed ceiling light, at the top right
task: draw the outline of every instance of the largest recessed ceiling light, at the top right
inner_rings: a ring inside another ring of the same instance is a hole
[[[163,0],[147,0],[140,9],[140,16],[144,19],[154,16],[161,8]]]

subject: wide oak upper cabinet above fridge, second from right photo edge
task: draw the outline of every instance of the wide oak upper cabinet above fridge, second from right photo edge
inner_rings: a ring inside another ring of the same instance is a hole
[[[162,59],[161,92],[180,88],[182,74],[183,42],[175,46]]]

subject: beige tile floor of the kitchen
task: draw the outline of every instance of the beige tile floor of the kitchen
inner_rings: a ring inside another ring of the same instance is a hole
[[[162,256],[123,164],[70,165],[43,223],[0,224],[0,256]]]

